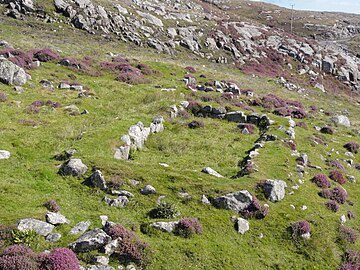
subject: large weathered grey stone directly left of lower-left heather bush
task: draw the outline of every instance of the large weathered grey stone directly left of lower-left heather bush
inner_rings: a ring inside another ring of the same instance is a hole
[[[78,240],[70,244],[70,248],[75,252],[87,252],[96,250],[106,245],[111,240],[101,229],[94,229],[84,233]]]

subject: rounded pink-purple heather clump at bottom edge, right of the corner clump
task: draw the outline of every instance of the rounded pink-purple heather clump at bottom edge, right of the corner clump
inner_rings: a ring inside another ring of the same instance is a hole
[[[43,258],[40,269],[79,270],[79,261],[75,253],[68,248],[56,248]]]

